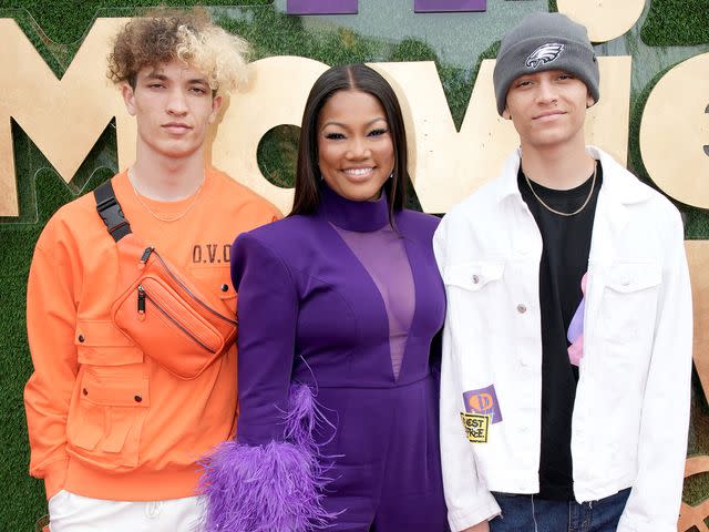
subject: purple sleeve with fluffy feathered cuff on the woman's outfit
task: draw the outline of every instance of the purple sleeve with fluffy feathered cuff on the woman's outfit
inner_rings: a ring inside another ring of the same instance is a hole
[[[291,386],[299,300],[284,262],[251,235],[232,249],[239,319],[236,440],[205,462],[206,530],[323,528],[327,483],[312,437],[318,413],[305,385]]]

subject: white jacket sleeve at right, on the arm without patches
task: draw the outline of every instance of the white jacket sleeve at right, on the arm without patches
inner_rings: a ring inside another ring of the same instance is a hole
[[[619,532],[675,532],[682,493],[692,352],[692,310],[681,219],[669,225],[655,339],[643,400],[638,474]]]

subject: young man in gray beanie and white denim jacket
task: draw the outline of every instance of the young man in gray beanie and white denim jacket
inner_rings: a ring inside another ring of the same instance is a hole
[[[692,346],[679,213],[585,145],[600,93],[584,27],[527,17],[494,83],[520,149],[434,237],[451,528],[675,532]]]

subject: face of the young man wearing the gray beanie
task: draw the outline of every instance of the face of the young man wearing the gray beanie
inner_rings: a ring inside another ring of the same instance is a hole
[[[514,123],[523,149],[583,145],[586,109],[593,104],[583,81],[548,70],[514,80],[502,115]]]

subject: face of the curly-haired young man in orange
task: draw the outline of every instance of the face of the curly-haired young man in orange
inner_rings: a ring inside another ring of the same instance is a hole
[[[203,73],[178,60],[144,66],[135,89],[125,83],[122,91],[129,113],[136,119],[138,156],[202,156],[209,124],[222,104]]]

